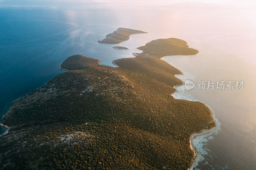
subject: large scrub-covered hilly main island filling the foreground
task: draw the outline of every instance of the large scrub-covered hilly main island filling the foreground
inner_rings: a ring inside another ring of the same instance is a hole
[[[0,169],[187,169],[190,135],[215,122],[203,103],[172,97],[181,72],[156,57],[114,68],[70,56],[61,64],[70,71],[4,115],[12,128],[0,137]]]

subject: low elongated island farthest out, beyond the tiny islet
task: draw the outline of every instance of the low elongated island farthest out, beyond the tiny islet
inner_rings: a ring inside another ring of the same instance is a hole
[[[133,30],[129,28],[117,28],[117,31],[114,31],[113,33],[106,35],[106,38],[98,42],[107,44],[119,44],[123,41],[129,40],[130,36],[135,33],[146,32],[140,30]]]

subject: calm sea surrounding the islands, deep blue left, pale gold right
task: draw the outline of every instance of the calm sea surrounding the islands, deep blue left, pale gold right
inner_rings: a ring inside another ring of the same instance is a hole
[[[256,169],[256,10],[209,6],[150,7],[0,7],[0,116],[14,100],[63,73],[58,65],[83,54],[113,66],[134,57],[137,47],[159,38],[188,42],[196,55],[162,59],[194,83],[176,86],[175,98],[200,101],[217,126],[191,137],[197,153],[190,169]],[[139,29],[118,46],[98,43],[118,27]],[[190,82],[189,81],[189,82]],[[214,84],[208,88],[208,81]],[[218,89],[217,82],[241,82],[243,88]],[[205,88],[198,88],[206,82]],[[1,127],[0,134],[6,131]]]

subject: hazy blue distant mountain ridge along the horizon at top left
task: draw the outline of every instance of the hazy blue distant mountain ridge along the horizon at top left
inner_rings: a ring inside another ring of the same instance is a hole
[[[3,0],[0,5],[19,6],[49,6],[49,5],[97,5],[101,4],[92,0]]]

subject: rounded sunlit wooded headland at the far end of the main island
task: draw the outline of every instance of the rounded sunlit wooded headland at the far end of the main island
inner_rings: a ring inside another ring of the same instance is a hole
[[[167,55],[195,55],[196,49],[188,48],[187,42],[177,38],[157,39],[138,47],[143,52],[137,55],[152,55],[162,58]]]

